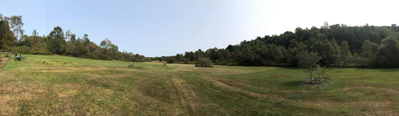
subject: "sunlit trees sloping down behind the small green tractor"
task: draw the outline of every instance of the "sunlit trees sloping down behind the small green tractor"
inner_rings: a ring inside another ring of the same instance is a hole
[[[109,39],[97,45],[87,34],[77,37],[71,30],[55,27],[48,35],[40,36],[36,30],[28,36],[22,29],[22,16],[6,17],[0,14],[0,51],[38,55],[69,55],[87,59],[144,62],[151,61],[143,55],[120,52]]]

